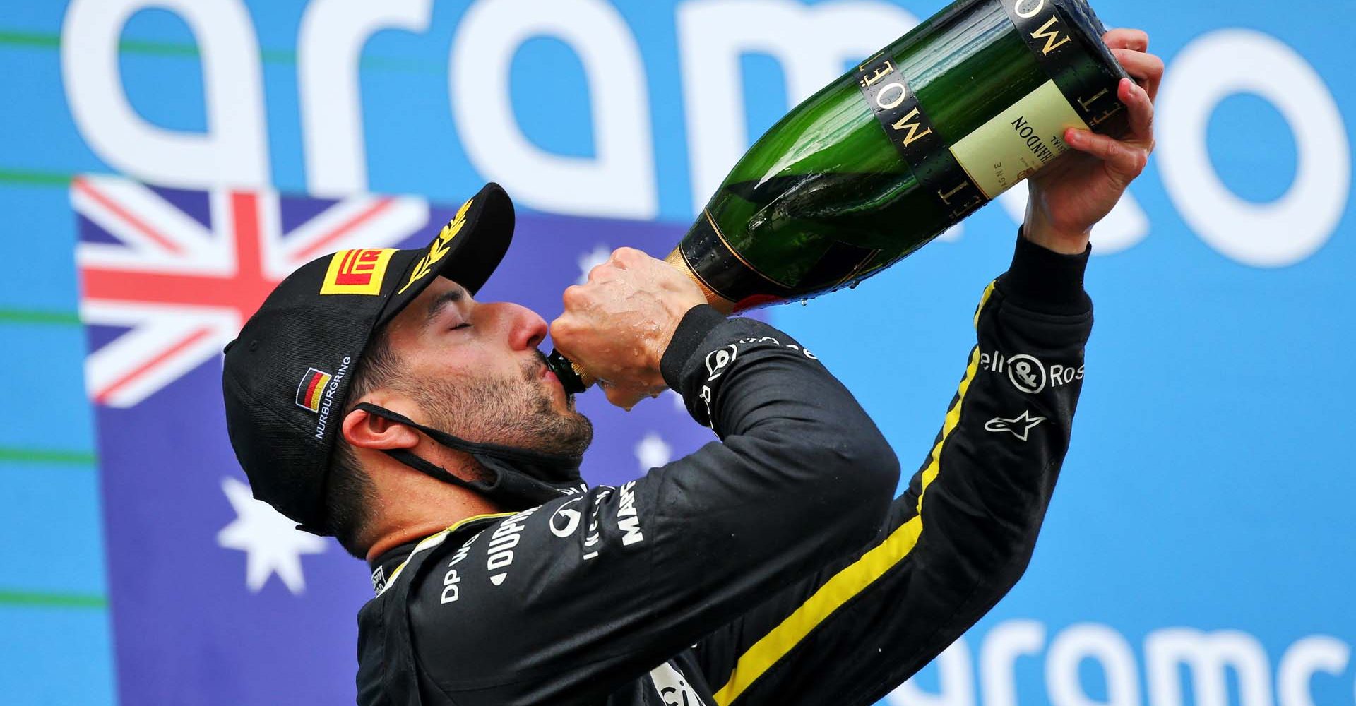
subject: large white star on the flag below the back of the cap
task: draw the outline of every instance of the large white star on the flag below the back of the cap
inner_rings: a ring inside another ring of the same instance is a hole
[[[274,573],[294,595],[306,589],[301,575],[301,554],[319,554],[325,541],[304,533],[268,503],[255,500],[250,486],[236,478],[222,478],[221,492],[236,511],[236,519],[217,533],[217,543],[239,549],[245,558],[245,585],[258,594]]]

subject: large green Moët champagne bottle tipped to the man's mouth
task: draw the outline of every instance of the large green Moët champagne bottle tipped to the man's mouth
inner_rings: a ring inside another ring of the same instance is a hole
[[[880,272],[1054,163],[1066,127],[1125,131],[1104,31],[1085,0],[952,3],[767,130],[667,260],[727,313]]]

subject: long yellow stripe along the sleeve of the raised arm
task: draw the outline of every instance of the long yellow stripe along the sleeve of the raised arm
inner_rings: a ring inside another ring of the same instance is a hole
[[[979,312],[982,312],[984,305],[989,304],[989,297],[993,291],[994,285],[990,283],[984,289],[983,297],[979,299],[979,309],[975,312],[976,327],[979,325]],[[965,375],[960,381],[956,404],[953,404],[946,412],[941,439],[938,439],[937,444],[933,446],[932,454],[928,459],[928,466],[923,469],[922,492],[918,493],[918,515],[900,524],[895,528],[895,531],[890,533],[890,537],[862,554],[860,560],[824,581],[824,585],[819,587],[814,595],[805,599],[805,602],[792,611],[791,615],[782,619],[780,625],[769,630],[766,636],[744,650],[744,653],[739,656],[739,661],[735,663],[735,668],[730,673],[730,679],[725,682],[725,686],[716,691],[716,703],[720,706],[730,706],[739,698],[740,694],[744,692],[744,690],[766,673],[773,664],[777,664],[778,660],[785,657],[786,653],[800,644],[800,641],[818,627],[819,623],[829,618],[829,615],[831,615],[849,599],[862,592],[877,579],[884,576],[885,572],[899,564],[899,561],[914,550],[918,545],[918,537],[922,534],[923,528],[923,495],[926,495],[928,486],[937,478],[937,474],[941,470],[942,444],[946,443],[946,438],[960,423],[960,409],[965,401],[965,392],[970,389],[970,382],[975,379],[975,373],[978,370],[979,347],[976,346],[970,351],[970,363],[965,366]]]

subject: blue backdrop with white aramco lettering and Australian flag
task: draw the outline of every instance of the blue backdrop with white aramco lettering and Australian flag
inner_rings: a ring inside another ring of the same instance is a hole
[[[1094,4],[1149,30],[1168,76],[1159,149],[1094,233],[1073,449],[1026,577],[888,701],[1353,705],[1356,5]],[[221,434],[216,351],[250,285],[325,248],[426,241],[494,179],[530,215],[490,294],[551,318],[598,253],[666,251],[751,138],[937,9],[7,4],[5,702],[351,702],[365,569],[251,505]],[[766,310],[906,466],[1021,207],[1008,195],[853,291]],[[706,438],[671,398],[647,405],[593,404],[593,480]]]

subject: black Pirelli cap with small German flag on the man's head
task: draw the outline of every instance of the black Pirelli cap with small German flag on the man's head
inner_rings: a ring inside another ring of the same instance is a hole
[[[372,333],[437,276],[475,294],[513,240],[509,194],[485,184],[424,248],[359,248],[287,275],[226,344],[226,431],[254,496],[325,534],[324,493],[350,382]]]

